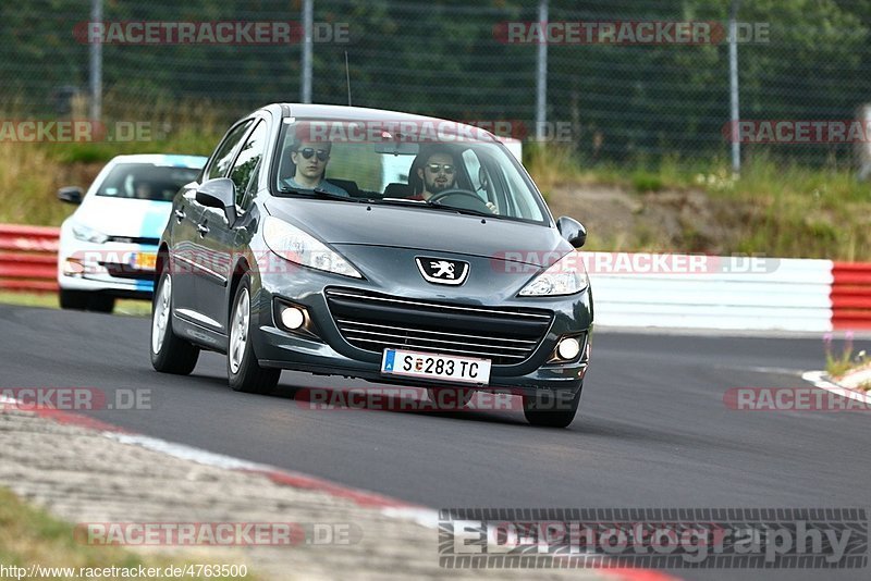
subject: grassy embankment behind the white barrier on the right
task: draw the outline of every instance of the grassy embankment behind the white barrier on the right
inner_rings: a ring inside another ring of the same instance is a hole
[[[765,154],[748,158],[740,176],[716,159],[589,165],[572,149],[535,144],[525,145],[524,163],[545,198],[560,187],[616,186],[655,208],[660,197],[664,207],[670,194],[700,193],[716,214],[719,238],[709,243],[712,248],[699,248],[696,224],[683,221],[684,235],[675,238],[687,247],[678,243],[668,251],[871,261],[871,185],[850,169],[807,168]],[[650,242],[645,228],[608,235],[626,251],[643,250]]]

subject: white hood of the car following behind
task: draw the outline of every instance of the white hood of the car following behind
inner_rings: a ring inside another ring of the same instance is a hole
[[[160,238],[171,211],[168,201],[89,196],[73,219],[110,236]]]

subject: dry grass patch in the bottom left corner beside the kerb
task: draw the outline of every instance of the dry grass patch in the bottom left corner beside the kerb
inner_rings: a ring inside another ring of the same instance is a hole
[[[211,558],[212,563],[217,563]],[[81,576],[81,568],[105,570],[116,567],[125,569],[155,568],[161,571],[149,579],[197,579],[197,577],[169,577],[162,574],[169,566],[183,567],[197,564],[196,559],[173,558],[162,555],[140,556],[118,546],[91,546],[76,541],[74,527],[23,503],[8,489],[0,487],[0,564],[26,569],[22,579],[81,580],[107,578],[105,574]],[[225,563],[230,563],[228,559]],[[42,567],[42,574],[29,577],[32,566]],[[57,568],[46,571],[46,568]],[[63,569],[66,569],[65,571]],[[86,572],[87,573],[87,572]],[[9,576],[7,576],[9,577]],[[116,576],[114,578],[120,578]],[[113,578],[110,576],[109,578]],[[212,577],[211,579],[257,579],[252,573],[245,577]]]

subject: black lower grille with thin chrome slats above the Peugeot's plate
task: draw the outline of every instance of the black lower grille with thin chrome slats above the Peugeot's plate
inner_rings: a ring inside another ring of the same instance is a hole
[[[394,347],[516,364],[536,350],[553,319],[540,309],[440,304],[349,288],[326,294],[345,341],[375,353]]]

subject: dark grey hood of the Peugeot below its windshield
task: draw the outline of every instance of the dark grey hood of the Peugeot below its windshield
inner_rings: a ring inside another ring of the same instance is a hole
[[[271,215],[331,245],[412,248],[547,267],[573,250],[556,228],[425,208],[271,199]]]

